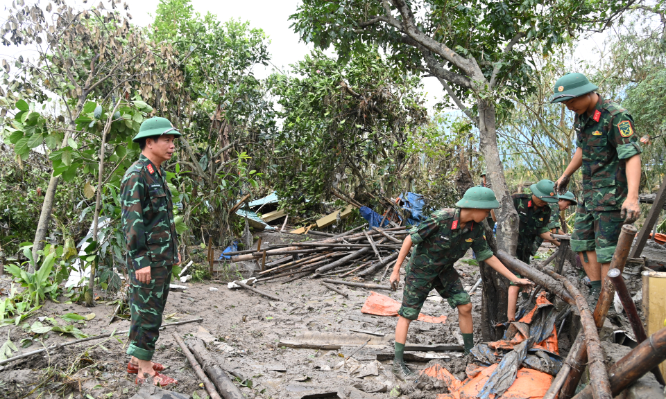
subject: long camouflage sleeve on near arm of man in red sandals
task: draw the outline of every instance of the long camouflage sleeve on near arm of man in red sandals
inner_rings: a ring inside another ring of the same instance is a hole
[[[145,198],[146,185],[139,173],[131,173],[121,193],[123,206],[123,231],[127,242],[128,269],[142,269],[151,265],[151,257],[146,245],[142,198]]]

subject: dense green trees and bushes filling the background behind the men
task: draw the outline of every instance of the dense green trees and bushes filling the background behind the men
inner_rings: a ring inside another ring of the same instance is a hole
[[[293,29],[318,48],[265,79],[255,67],[271,60],[270,38],[251,21],[160,0],[154,23],[139,27],[116,3],[17,1],[1,27],[5,53],[30,46],[37,55],[2,61],[0,261],[37,291],[26,292],[29,305],[18,293],[0,302],[0,321],[56,297],[77,259],[117,289],[120,179],[137,158],[131,138],[154,115],[185,134],[167,179],[182,205],[186,260],[209,238],[225,246],[241,236],[246,222],[229,210],[246,193],[277,190],[298,225],[342,204],[332,188],[376,211],[377,197],[411,190],[434,209],[454,203],[463,171],[477,181],[486,163],[502,162],[489,172],[507,193],[557,179],[575,150],[572,115],[548,98],[570,70],[651,137],[642,190],[655,191],[666,172],[664,0],[421,0],[411,4],[416,17],[398,0],[307,0]],[[607,33],[600,62],[580,64],[574,48],[594,31]],[[333,55],[321,50],[330,47]],[[434,109],[424,76],[449,94]],[[89,230],[99,233],[77,256],[74,242]],[[45,264],[49,275],[32,274]]]

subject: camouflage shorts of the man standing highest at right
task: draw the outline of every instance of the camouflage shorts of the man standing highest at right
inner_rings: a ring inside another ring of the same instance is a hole
[[[620,211],[586,211],[584,204],[576,210],[571,250],[596,251],[599,263],[609,263],[617,247],[624,219]]]

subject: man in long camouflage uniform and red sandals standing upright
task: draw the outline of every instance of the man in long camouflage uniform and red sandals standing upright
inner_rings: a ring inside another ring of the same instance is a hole
[[[180,263],[171,192],[162,168],[162,163],[171,159],[176,150],[173,140],[180,136],[165,118],[144,121],[133,139],[139,143],[141,155],[128,168],[121,184],[130,276],[131,324],[127,354],[132,358],[127,372],[138,374],[137,384],[147,378],[162,387],[177,383],[160,374],[164,366],[151,360],[169,295],[171,267]]]

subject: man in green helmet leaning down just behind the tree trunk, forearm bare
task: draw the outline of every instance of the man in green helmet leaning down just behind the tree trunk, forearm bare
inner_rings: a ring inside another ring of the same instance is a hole
[[[515,257],[529,265],[529,258],[536,254],[543,240],[549,240],[559,247],[548,230],[551,209],[548,204],[556,204],[558,196],[555,194],[555,184],[551,180],[543,179],[537,184],[529,186],[531,194],[514,194],[513,206],[518,212],[518,247]],[[520,274],[516,274],[520,278]],[[520,287],[511,284],[509,287],[509,307],[506,317],[515,319],[515,304],[518,302]]]

